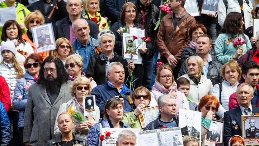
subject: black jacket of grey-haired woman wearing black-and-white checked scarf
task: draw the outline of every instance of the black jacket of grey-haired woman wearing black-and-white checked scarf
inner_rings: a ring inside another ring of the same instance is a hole
[[[87,66],[86,70],[86,77],[90,78],[92,77],[97,85],[102,85],[106,83],[106,61],[102,61],[100,58],[101,52],[95,56],[92,57],[89,61],[89,64]],[[95,60],[95,61],[93,61]],[[128,72],[128,62],[123,59],[121,56],[117,55],[116,52],[114,52],[114,59],[110,61],[111,62],[120,62],[124,69],[125,69],[125,80],[127,79],[129,72]]]

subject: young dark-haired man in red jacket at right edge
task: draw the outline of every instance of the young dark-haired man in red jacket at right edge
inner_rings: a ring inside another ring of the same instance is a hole
[[[253,94],[254,98],[251,101],[251,104],[253,106],[258,107],[258,92],[259,92],[259,85],[258,85],[258,79],[259,79],[259,66],[257,62],[255,61],[246,61],[243,66],[241,67],[242,69],[242,77],[245,79],[245,83],[251,85],[253,87]],[[229,97],[229,102],[228,102],[228,109],[234,109],[238,107],[238,99],[236,97],[236,93],[233,93]]]

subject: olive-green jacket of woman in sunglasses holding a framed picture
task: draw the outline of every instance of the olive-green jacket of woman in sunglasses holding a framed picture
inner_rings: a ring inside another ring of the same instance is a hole
[[[130,125],[131,128],[138,128],[140,131],[143,131],[144,128],[141,127],[139,118],[133,112],[134,110],[129,113],[123,113],[123,123]]]

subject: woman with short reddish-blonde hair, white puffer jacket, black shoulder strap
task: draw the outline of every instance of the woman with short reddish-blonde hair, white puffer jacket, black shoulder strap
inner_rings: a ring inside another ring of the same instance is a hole
[[[224,81],[214,85],[211,95],[217,97],[220,104],[216,114],[220,118],[223,118],[224,112],[228,111],[229,97],[237,90],[242,71],[236,61],[230,60],[221,67],[220,73],[224,78]]]

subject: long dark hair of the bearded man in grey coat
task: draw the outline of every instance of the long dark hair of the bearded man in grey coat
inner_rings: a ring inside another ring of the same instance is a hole
[[[57,75],[58,75],[57,80],[59,81],[59,83],[64,83],[64,82],[68,81],[69,75],[68,75],[67,71],[65,70],[62,61],[57,57],[48,56],[43,61],[42,65],[40,66],[39,78],[37,80],[37,83],[40,84],[40,82],[42,82],[42,80],[45,80],[43,69],[44,69],[44,66],[45,66],[46,62],[49,62],[49,63],[54,62],[55,63],[56,68],[57,68],[56,71],[57,71]]]

